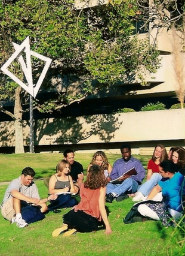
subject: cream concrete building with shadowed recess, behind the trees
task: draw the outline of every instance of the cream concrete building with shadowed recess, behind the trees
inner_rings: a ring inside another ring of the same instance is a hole
[[[106,4],[107,1],[101,1]],[[100,1],[76,1],[76,8],[94,7]],[[171,30],[154,28],[150,33],[138,35],[149,37],[152,44],[156,41],[161,55],[161,68],[151,75],[146,73],[149,86],[142,86],[136,79],[132,84],[119,83],[114,90],[104,91],[89,97],[81,104],[66,107],[60,116],[53,114],[40,116],[35,114],[35,150],[60,151],[66,147],[75,150],[103,149],[119,152],[122,142],[131,144],[134,153],[152,153],[153,147],[163,143],[167,148],[184,146],[185,112],[184,110],[159,110],[154,112],[135,112],[116,114],[116,109],[129,107],[138,111],[147,103],[163,102],[166,108],[178,103],[176,92],[178,79],[174,59],[174,37]],[[180,44],[180,41],[177,42]],[[181,53],[180,66],[185,67]],[[185,74],[185,72],[184,72]],[[184,77],[185,81],[185,77]],[[70,113],[70,117],[69,116]],[[25,118],[27,119],[27,118]],[[5,121],[5,120],[3,120]],[[1,122],[1,151],[14,147],[14,127],[12,121]],[[12,132],[10,132],[12,131]],[[24,124],[24,144],[28,149],[29,124]],[[4,149],[3,149],[4,148]],[[28,150],[27,150],[28,151]]]

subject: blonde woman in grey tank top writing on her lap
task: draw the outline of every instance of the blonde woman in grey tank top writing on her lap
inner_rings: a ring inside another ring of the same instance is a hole
[[[71,196],[75,192],[72,177],[69,175],[70,164],[61,160],[57,164],[57,171],[51,176],[49,182],[49,193],[57,194],[56,200],[50,200],[48,210],[56,212],[56,209],[73,207],[78,202]]]

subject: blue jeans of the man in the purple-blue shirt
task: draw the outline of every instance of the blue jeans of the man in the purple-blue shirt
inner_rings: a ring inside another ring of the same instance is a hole
[[[106,186],[106,193],[109,194],[113,192],[117,195],[121,195],[125,192],[135,193],[137,191],[137,188],[138,183],[132,178],[127,178],[121,184],[108,183]]]

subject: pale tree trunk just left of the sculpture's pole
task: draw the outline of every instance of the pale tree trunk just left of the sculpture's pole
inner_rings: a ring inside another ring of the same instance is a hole
[[[16,149],[15,153],[24,153],[24,145],[23,145],[23,123],[22,116],[23,110],[21,107],[21,87],[18,86],[16,88],[16,98],[15,98],[15,106],[14,106],[14,127],[15,127],[15,137],[16,137]]]

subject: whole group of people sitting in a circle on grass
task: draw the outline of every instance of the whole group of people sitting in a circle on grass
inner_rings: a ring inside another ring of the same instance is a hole
[[[172,147],[169,153],[162,144],[155,146],[147,166],[131,155],[129,144],[121,146],[122,158],[111,166],[103,151],[97,151],[87,169],[76,162],[73,150],[63,153],[64,159],[56,167],[56,173],[45,181],[49,195],[40,199],[33,182],[35,171],[26,167],[21,176],[14,179],[5,191],[1,204],[2,216],[18,227],[45,218],[46,212],[60,212],[72,207],[63,215],[63,225],[53,231],[53,236],[70,236],[79,232],[91,232],[104,228],[112,233],[107,218],[105,202],[122,201],[133,197],[141,201],[137,216],[162,221],[171,225],[172,219],[183,216],[185,149]],[[143,182],[146,176],[146,182]],[[79,200],[80,196],[80,200]],[[47,206],[47,201],[50,203]],[[146,201],[146,202],[145,202]],[[127,223],[127,222],[125,222]]]

